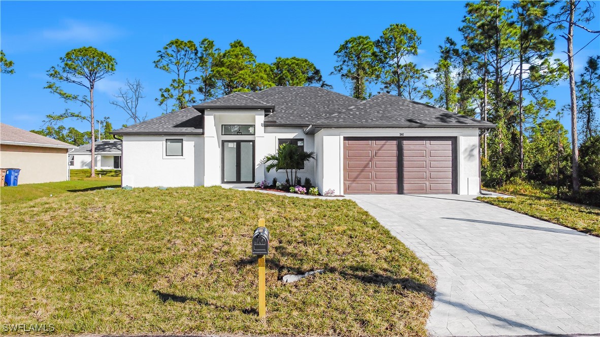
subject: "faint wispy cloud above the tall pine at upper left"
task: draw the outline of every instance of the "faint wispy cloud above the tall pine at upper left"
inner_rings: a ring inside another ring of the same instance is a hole
[[[95,43],[122,35],[122,31],[107,23],[64,20],[58,28],[46,28],[41,37],[54,41],[81,41]]]

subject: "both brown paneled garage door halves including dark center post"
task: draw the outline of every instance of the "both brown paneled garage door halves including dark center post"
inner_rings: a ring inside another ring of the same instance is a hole
[[[346,194],[456,193],[455,139],[344,138]]]

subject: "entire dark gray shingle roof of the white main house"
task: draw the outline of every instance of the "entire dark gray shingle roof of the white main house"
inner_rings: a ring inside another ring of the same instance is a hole
[[[265,126],[302,126],[307,132],[318,128],[336,127],[436,127],[436,128],[493,128],[490,122],[459,115],[428,104],[380,94],[368,100],[338,94],[311,86],[276,86],[259,92],[226,95],[197,104],[203,113],[209,109],[265,109]],[[175,125],[187,116],[187,108],[150,121],[114,131],[115,134],[157,133],[153,125],[161,119],[161,130],[175,130]],[[269,110],[270,109],[270,110]],[[271,113],[272,112],[272,113]],[[190,116],[197,118],[190,113]],[[202,118],[199,117],[201,124]],[[202,127],[200,127],[202,128]]]

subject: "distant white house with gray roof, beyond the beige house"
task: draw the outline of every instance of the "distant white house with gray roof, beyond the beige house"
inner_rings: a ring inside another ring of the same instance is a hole
[[[95,169],[121,169],[121,141],[116,139],[98,140],[95,144]],[[92,144],[84,144],[69,152],[70,169],[91,169]]]

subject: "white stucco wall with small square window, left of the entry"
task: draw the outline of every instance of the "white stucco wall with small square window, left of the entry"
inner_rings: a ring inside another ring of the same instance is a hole
[[[167,157],[166,139],[183,139],[183,155]],[[202,136],[124,136],[122,183],[133,187],[203,185]]]

